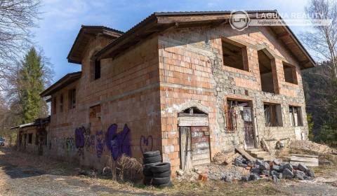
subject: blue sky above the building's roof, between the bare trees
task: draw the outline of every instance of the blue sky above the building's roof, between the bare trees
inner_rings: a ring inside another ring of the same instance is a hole
[[[275,10],[303,13],[308,0],[44,0],[34,42],[54,66],[54,82],[81,65],[67,62],[67,54],[81,25],[104,25],[127,31],[148,15],[159,11]],[[291,27],[295,34],[301,28]]]

